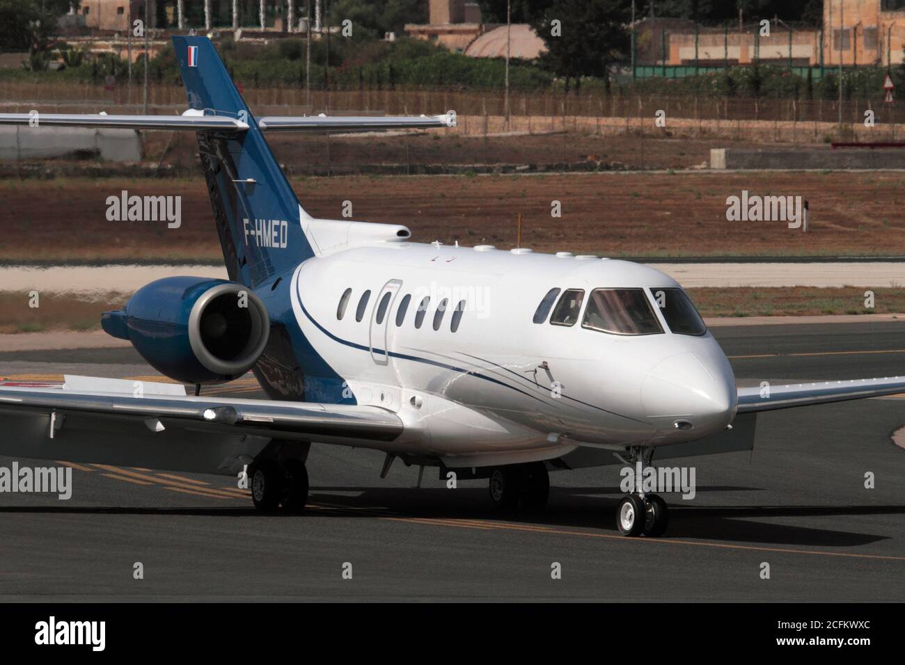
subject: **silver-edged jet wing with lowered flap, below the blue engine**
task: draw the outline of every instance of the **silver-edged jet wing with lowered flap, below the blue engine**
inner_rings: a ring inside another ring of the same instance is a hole
[[[0,385],[9,457],[232,475],[274,439],[392,450],[403,429],[376,406]]]

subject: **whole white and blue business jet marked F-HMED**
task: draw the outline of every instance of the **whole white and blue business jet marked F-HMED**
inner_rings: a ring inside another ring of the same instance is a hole
[[[102,315],[181,385],[2,386],[0,454],[236,475],[255,507],[297,511],[312,442],[366,447],[386,453],[381,477],[396,459],[435,467],[489,480],[500,509],[538,511],[549,470],[750,450],[759,412],[905,391],[900,377],[737,389],[680,284],[640,264],[312,218],[265,134],[454,127],[454,113],[256,119],[208,39],[173,43],[181,116],[0,123],[194,131],[229,279],[157,280]],[[269,399],[202,394],[249,370]],[[639,488],[616,526],[655,537],[668,516]]]

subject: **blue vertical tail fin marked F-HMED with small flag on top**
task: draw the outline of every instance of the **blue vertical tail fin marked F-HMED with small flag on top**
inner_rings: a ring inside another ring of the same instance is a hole
[[[291,270],[314,252],[300,224],[299,199],[206,37],[175,36],[188,105],[243,120],[237,134],[198,132],[214,219],[233,281],[251,286]]]

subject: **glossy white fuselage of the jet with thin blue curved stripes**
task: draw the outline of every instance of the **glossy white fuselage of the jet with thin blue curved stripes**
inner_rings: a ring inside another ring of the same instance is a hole
[[[673,334],[648,291],[678,286],[629,261],[378,242],[305,261],[291,290],[302,332],[357,403],[403,419],[401,451],[481,466],[550,459],[577,445],[686,442],[726,428],[737,402],[729,361],[710,332]],[[534,323],[553,288],[643,288],[663,332],[610,334],[584,328],[580,317],[571,326]]]

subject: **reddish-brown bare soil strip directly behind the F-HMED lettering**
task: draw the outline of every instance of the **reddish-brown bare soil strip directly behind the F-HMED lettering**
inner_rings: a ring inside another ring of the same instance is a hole
[[[598,173],[539,176],[295,177],[315,216],[402,223],[417,242],[522,246],[604,256],[905,255],[905,173]],[[107,197],[182,196],[182,225],[109,222]],[[727,197],[801,195],[810,233],[728,222]],[[553,202],[561,217],[551,216]],[[6,180],[0,260],[216,260],[202,177]]]

